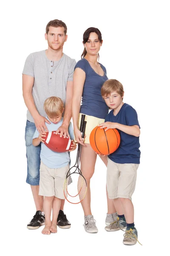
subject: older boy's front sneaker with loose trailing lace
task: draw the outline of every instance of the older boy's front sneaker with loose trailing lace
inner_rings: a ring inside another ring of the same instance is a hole
[[[138,232],[135,227],[133,229],[131,229],[131,228],[128,230],[126,229],[125,234],[123,236],[124,236],[123,244],[133,245],[133,244],[136,244],[136,242],[138,241]],[[139,243],[139,244],[141,244],[141,243]]]

